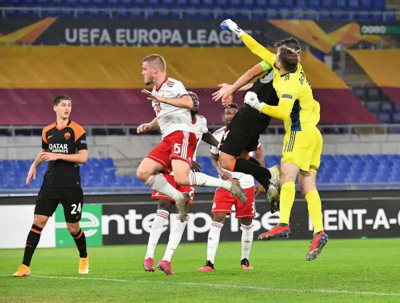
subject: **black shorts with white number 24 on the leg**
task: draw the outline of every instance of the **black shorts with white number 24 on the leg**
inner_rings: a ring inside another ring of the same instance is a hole
[[[64,209],[65,221],[76,223],[82,216],[83,190],[81,187],[42,187],[40,188],[35,215],[51,217],[61,203]]]

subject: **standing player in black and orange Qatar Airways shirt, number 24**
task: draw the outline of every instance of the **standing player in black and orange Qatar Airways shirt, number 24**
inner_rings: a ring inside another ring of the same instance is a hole
[[[71,98],[61,95],[54,99],[53,109],[56,112],[56,123],[43,128],[41,150],[30,166],[26,184],[36,177],[36,167],[48,162],[43,177],[36,206],[33,225],[26,239],[22,264],[12,275],[23,277],[30,275],[30,261],[39,243],[40,234],[52,216],[58,203],[64,209],[66,227],[73,237],[79,251],[79,274],[89,272],[89,259],[86,252],[86,239],[79,227],[83,206],[83,191],[80,185],[79,163],[87,161],[86,134],[80,125],[69,120]]]

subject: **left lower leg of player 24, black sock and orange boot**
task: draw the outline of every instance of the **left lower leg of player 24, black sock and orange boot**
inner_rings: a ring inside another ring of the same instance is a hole
[[[23,253],[22,264],[18,267],[12,277],[24,277],[30,275],[30,262],[33,257],[33,253],[40,240],[41,232],[46,225],[48,217],[42,215],[34,215],[33,224],[30,228],[28,236],[26,238],[25,251]]]

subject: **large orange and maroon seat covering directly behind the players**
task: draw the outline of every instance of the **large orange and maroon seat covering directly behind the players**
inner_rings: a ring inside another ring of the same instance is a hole
[[[227,51],[231,56],[226,56]],[[5,115],[0,124],[52,123],[49,120],[52,109],[48,102],[66,90],[77,104],[73,115],[81,124],[135,125],[148,122],[154,113],[140,93],[144,86],[140,61],[144,55],[154,52],[163,54],[171,77],[185,79],[186,87],[198,94],[201,113],[210,124],[220,123],[220,104],[211,100],[216,85],[222,79],[232,83],[259,61],[241,47],[228,50],[213,47],[2,47],[0,55],[6,64],[0,66],[0,100],[6,106],[3,106]],[[234,69],[226,68],[231,65],[232,57],[240,57],[240,60],[235,61]],[[185,62],[191,63],[187,65]],[[321,124],[379,123],[343,80],[323,62],[308,51],[302,53],[301,62],[312,83],[314,96],[321,104]],[[48,77],[49,74],[52,76]],[[34,104],[30,112],[23,110],[27,102]],[[236,94],[235,102],[242,104],[241,94]],[[345,102],[345,107],[342,102]],[[353,115],[353,112],[359,114]]]

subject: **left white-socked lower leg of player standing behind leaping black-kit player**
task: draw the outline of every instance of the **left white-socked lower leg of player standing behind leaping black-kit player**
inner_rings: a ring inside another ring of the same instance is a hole
[[[219,213],[214,214],[211,227],[208,232],[207,240],[207,261],[203,267],[197,269],[197,272],[212,272],[214,271],[214,259],[216,255],[216,250],[219,244],[219,235],[225,222],[226,214]]]

